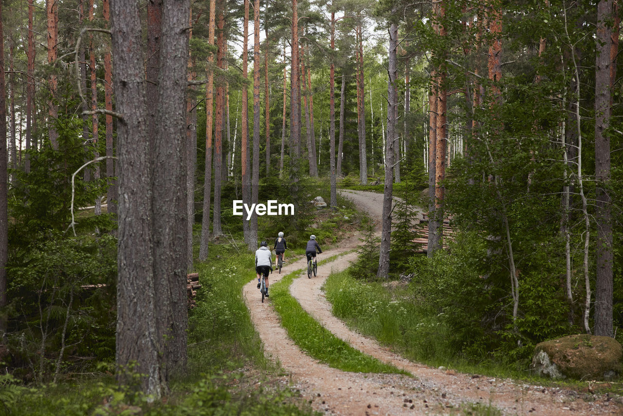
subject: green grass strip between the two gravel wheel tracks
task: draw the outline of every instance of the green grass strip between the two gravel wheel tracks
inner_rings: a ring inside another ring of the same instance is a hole
[[[328,263],[337,256],[319,263]],[[302,270],[293,271],[283,279],[270,285],[270,299],[275,311],[279,314],[282,326],[297,345],[309,356],[324,362],[330,367],[352,372],[371,372],[389,374],[407,374],[393,365],[385,364],[378,359],[354,349],[346,342],[333,335],[328,329],[313,319],[297,300],[290,294],[293,279]]]

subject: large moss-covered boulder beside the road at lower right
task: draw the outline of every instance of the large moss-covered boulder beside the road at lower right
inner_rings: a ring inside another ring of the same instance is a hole
[[[537,344],[531,368],[553,379],[610,380],[621,372],[622,357],[616,339],[578,334]]]

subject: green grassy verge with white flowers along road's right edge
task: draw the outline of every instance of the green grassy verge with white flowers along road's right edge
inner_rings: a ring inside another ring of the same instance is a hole
[[[579,392],[621,395],[623,382],[554,381],[492,361],[473,363],[462,360],[444,347],[449,329],[435,319],[432,311],[423,309],[417,302],[417,294],[406,286],[359,281],[345,270],[332,273],[323,289],[336,317],[362,334],[391,346],[408,359],[434,367],[444,365],[467,374],[511,378]]]

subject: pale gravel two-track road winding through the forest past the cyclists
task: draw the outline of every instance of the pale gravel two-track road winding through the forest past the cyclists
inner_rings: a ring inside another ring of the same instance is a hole
[[[379,233],[383,195],[366,191],[341,191],[360,210],[373,218]],[[318,266],[318,276],[306,279],[306,259],[287,258],[282,274],[270,274],[270,284],[292,271],[301,269],[290,293],[310,315],[337,337],[362,352],[410,372],[398,374],[363,374],[343,372],[307,356],[280,325],[270,298],[260,301],[253,279],[244,286],[244,298],[252,322],[264,343],[264,351],[287,372],[286,380],[309,400],[313,409],[331,415],[401,415],[401,414],[505,414],[505,415],[621,415],[619,398],[576,392],[561,387],[523,384],[510,379],[461,374],[411,362],[394,354],[373,339],[349,329],[331,314],[321,286],[331,271],[348,268],[356,258],[354,249],[361,235],[341,241],[326,249],[319,259],[347,253],[331,263]],[[351,253],[348,253],[351,252]],[[285,272],[285,273],[284,273]]]

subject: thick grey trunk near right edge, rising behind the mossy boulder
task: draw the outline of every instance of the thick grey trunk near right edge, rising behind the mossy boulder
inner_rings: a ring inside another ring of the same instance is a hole
[[[612,215],[610,127],[613,0],[597,3],[597,54],[595,62],[595,179],[597,208],[597,272],[595,286],[595,335],[614,336],[612,328]],[[618,47],[618,45],[616,45]],[[616,48],[616,49],[615,49]]]

